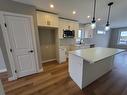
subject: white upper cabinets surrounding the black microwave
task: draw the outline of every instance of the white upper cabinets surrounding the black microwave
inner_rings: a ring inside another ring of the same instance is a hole
[[[79,23],[72,20],[59,19],[59,38],[63,38],[63,30],[74,30],[75,38],[78,37]]]

